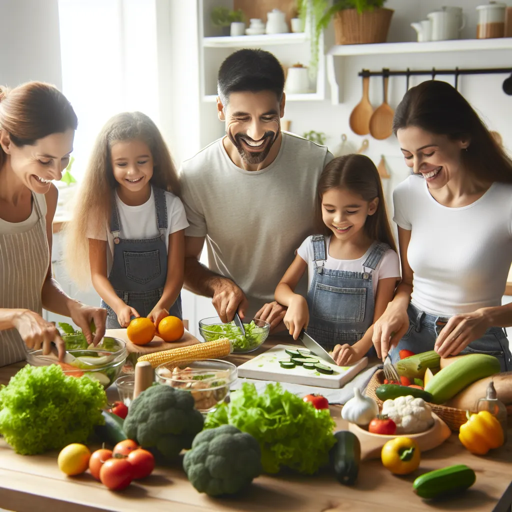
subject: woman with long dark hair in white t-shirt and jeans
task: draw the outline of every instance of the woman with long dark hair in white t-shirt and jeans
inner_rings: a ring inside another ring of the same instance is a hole
[[[377,353],[484,353],[510,370],[512,161],[446,82],[409,90],[393,130],[413,175],[393,194],[402,281],[375,324]]]

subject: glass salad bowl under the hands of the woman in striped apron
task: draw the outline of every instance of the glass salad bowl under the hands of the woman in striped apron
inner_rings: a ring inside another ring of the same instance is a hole
[[[42,350],[28,352],[27,362],[32,366],[59,365],[66,375],[95,379],[106,389],[121,373],[127,355],[122,339],[104,337],[96,347],[67,350],[63,361],[58,360],[55,349],[48,355]]]

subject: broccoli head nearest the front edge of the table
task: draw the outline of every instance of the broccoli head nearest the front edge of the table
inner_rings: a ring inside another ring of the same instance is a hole
[[[185,453],[183,468],[200,493],[234,494],[261,474],[260,445],[232,425],[204,430]]]

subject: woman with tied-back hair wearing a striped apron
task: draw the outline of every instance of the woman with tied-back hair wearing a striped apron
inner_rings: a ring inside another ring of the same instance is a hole
[[[73,107],[55,87],[28,82],[0,88],[0,366],[64,344],[42,308],[70,316],[88,341],[105,332],[106,311],[72,300],[52,277],[57,188],[77,128]],[[85,256],[84,256],[85,257]],[[94,321],[96,334],[91,334]]]

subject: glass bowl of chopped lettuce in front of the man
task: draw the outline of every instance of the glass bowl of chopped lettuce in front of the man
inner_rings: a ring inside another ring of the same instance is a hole
[[[234,322],[223,324],[218,316],[210,316],[199,321],[199,332],[205,342],[228,338],[233,346],[233,352],[239,354],[246,354],[261,347],[268,337],[270,324],[254,318],[249,324],[244,323],[244,329],[245,336]]]

